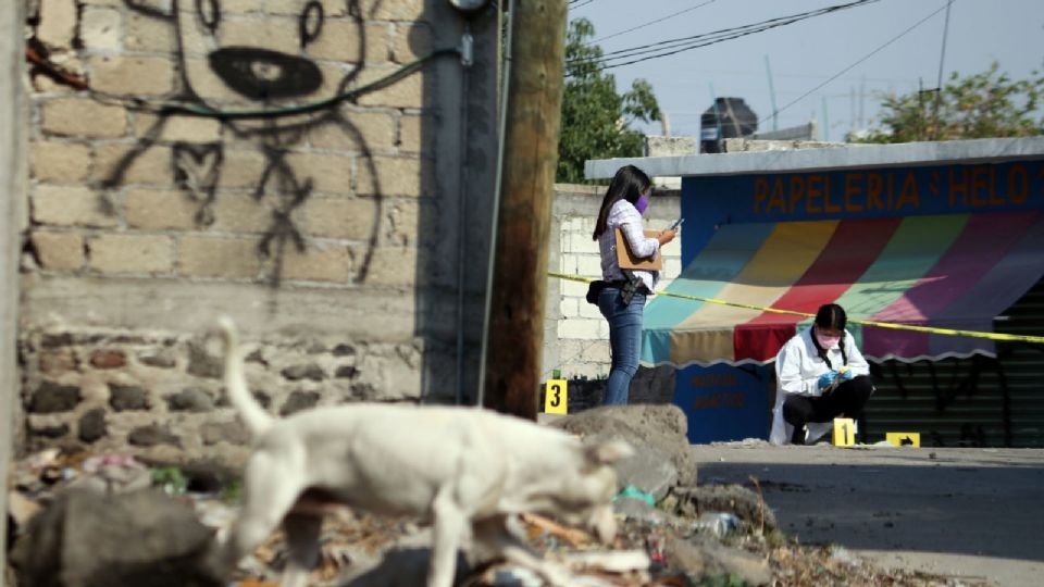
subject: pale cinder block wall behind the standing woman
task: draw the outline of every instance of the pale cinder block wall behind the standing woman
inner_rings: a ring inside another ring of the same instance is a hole
[[[601,278],[598,243],[592,240],[598,209],[606,188],[557,184],[548,247],[549,271]],[[681,213],[678,191],[656,191],[645,214],[647,229],[670,226]],[[663,273],[658,288],[670,285],[681,273],[681,246],[674,242],[663,249]],[[587,303],[587,284],[549,278],[544,329],[544,379],[555,370],[562,377],[592,379],[609,376],[609,323],[596,305]]]

